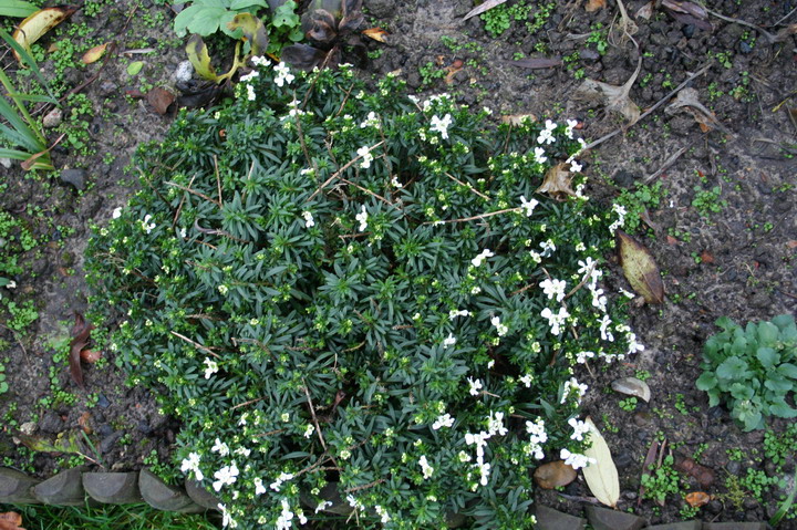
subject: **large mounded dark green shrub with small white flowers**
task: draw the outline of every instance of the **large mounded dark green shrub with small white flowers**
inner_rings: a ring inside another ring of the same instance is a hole
[[[576,122],[252,63],[141,147],[90,242],[91,318],[183,422],[175,465],[227,528],[531,528],[529,471],[591,463],[579,364],[642,350]],[[573,196],[536,193],[561,164]]]

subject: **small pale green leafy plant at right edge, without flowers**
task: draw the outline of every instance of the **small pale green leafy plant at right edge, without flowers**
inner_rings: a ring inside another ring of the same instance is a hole
[[[716,324],[723,331],[706,341],[703,374],[697,378],[697,388],[708,394],[708,404],[724,403],[745,430],[764,428],[769,416],[797,417],[794,315],[749,322],[745,328],[723,316]]]

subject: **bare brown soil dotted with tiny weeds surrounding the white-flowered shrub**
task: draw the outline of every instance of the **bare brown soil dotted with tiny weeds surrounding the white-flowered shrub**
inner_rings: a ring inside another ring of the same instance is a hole
[[[526,20],[534,22],[545,2],[531,3]],[[651,523],[682,518],[685,503],[677,496],[669,496],[664,506],[638,502],[645,454],[652,440],[666,439],[673,456],[693,457],[697,451],[700,463],[714,472],[714,479],[702,486],[683,476],[683,492],[714,496],[696,518],[768,519],[795,487],[795,456],[783,467],[785,489],[768,488],[760,499],[749,491],[732,499],[727,477],[743,476],[747,469],[772,475],[775,466],[763,458],[764,433],[744,433],[726,409],[710,408],[694,382],[701,373],[703,343],[717,331],[716,319],[727,315],[747,322],[797,313],[797,123],[794,114],[789,116],[789,110],[797,107],[795,37],[769,44],[753,27],[710,14],[705,22],[712,29],[701,29],[702,23],[677,20],[663,8],[645,20],[635,14],[648,2],[629,0],[625,9],[639,29],[633,35],[636,49],[632,41],[621,39],[614,0],[594,12],[587,12],[583,1],[555,3],[539,30],[530,32],[525,20],[511,21],[509,30],[494,38],[478,17],[462,20],[473,8],[470,0],[365,0],[368,25],[381,27],[390,37],[386,44],[363,38],[371,59],[361,64],[362,73],[397,72],[412,90],[449,92],[460,103],[490,107],[496,117],[579,117],[589,141],[623,127],[625,122],[600,105],[579,100],[577,87],[583,80],[577,77],[621,85],[641,58],[630,96],[645,110],[708,66],[689,86],[697,91],[720,125],[703,132],[692,115],[669,114],[662,105],[584,157],[593,200],[611,200],[622,189],[633,190],[643,183],[662,184],[665,195],[648,209],[646,222],[636,237],[655,257],[667,298],[662,305],[632,312],[631,324],[645,345],[643,353],[607,370],[583,370],[579,380],[590,385],[586,413],[602,429],[620,469],[620,509],[633,509]],[[794,0],[707,0],[704,4],[769,33],[797,22]],[[158,17],[163,21],[158,22]],[[15,278],[14,291],[3,293],[17,301],[34,300],[40,314],[25,333],[0,329],[8,344],[0,360],[11,387],[0,395],[0,455],[6,464],[43,476],[59,465],[58,455],[30,454],[15,444],[15,433],[29,422],[32,424],[25,428],[35,427],[37,435],[54,437],[69,436],[81,428],[79,418],[87,417],[90,439],[108,469],[139,468],[153,450],[167,458],[178,429],[157,413],[148,392],[124,385],[125,375],[114,366],[112,352],[103,351],[108,362],[102,368],[84,365],[85,391],[74,386],[63,363],[53,361],[54,344],[69,339],[73,312],[85,311],[87,305],[82,253],[89,227],[106,222],[113,208],[135,191],[136,170],[126,168],[133,149],[144,139],[162,137],[170,122],[172,114],[161,116],[130,94],[153,86],[178,93],[173,73],[185,55],[179,46],[158,48],[172,39],[173,17],[169,8],[146,0],[120,1],[95,18],[77,12],[66,22],[85,22],[90,29],[89,35],[74,39],[81,54],[95,43],[117,43],[116,55],[107,63],[70,67],[65,73],[70,87],[99,73],[81,90],[93,108],[89,134],[94,153],[81,155],[66,147],[53,154],[56,167],[85,170],[85,190],[58,177],[30,178],[17,167],[0,167],[9,185],[0,207],[24,219],[45,241],[24,254],[27,272]],[[124,53],[141,48],[158,51],[155,55]],[[563,64],[531,70],[513,63],[528,58],[560,59]],[[145,66],[131,76],[126,66],[135,60],[144,61]],[[15,67],[8,56],[3,65]],[[54,75],[52,63],[45,61],[43,66],[45,75]],[[70,108],[64,108],[64,115],[68,113]],[[676,153],[681,154],[673,158]],[[718,193],[714,197],[705,193],[715,187]],[[710,211],[712,205],[716,211]],[[39,211],[43,219],[37,216]],[[612,269],[608,287],[629,289],[619,266]],[[623,411],[619,401],[625,396],[614,394],[611,382],[640,371],[650,373],[653,397],[650,404]],[[75,395],[75,402],[56,399],[56,389]],[[42,402],[48,397],[49,403]],[[769,423],[775,433],[786,427],[783,420]],[[90,449],[87,454],[97,459]],[[742,451],[741,461],[728,456],[736,449]],[[563,493],[541,491],[540,500],[580,513],[583,498],[590,497],[581,479]],[[779,528],[797,524],[785,521]]]

